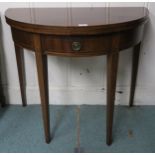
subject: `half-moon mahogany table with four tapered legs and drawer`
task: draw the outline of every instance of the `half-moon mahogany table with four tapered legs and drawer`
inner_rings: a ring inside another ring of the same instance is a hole
[[[129,105],[148,10],[136,8],[10,8],[5,13],[15,44],[23,106],[26,106],[23,48],[35,51],[46,142],[50,142],[47,55],[107,55],[107,144],[112,124],[119,51],[133,47]],[[94,64],[95,65],[95,64]]]

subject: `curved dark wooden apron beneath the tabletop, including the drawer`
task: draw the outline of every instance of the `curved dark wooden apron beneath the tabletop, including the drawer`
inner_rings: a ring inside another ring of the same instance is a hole
[[[121,51],[141,42],[144,25],[134,29],[100,35],[46,35],[39,34],[43,54],[58,56],[95,56]],[[12,37],[19,46],[35,51],[34,34],[12,27]],[[76,43],[80,47],[73,48]]]

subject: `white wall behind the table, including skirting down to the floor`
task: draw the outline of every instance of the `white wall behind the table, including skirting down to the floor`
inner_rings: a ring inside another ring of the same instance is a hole
[[[3,87],[10,104],[21,104],[17,66],[10,27],[4,12],[13,7],[111,7],[145,6],[150,10],[144,44],[140,55],[136,105],[155,105],[155,3],[0,3],[1,69]],[[130,88],[131,51],[120,53],[116,104],[127,105]],[[33,53],[25,50],[28,104],[40,103],[36,62]],[[106,57],[65,58],[48,57],[50,104],[106,104]],[[122,93],[120,93],[120,91]]]

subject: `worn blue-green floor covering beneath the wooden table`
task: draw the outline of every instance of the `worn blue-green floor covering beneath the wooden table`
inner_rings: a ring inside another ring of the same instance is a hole
[[[44,141],[39,105],[0,108],[0,152],[74,152],[77,106],[50,106],[53,140]],[[84,152],[155,152],[155,106],[116,106],[113,144],[106,145],[106,107],[81,106]]]

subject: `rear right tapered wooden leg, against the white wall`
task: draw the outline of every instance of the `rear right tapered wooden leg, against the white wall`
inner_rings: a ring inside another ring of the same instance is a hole
[[[134,94],[135,94],[135,87],[136,87],[136,79],[137,79],[137,72],[138,72],[138,62],[139,62],[139,53],[140,53],[140,44],[137,44],[133,49],[132,54],[132,73],[131,73],[131,88],[130,88],[130,99],[129,99],[129,106],[133,106]]]

